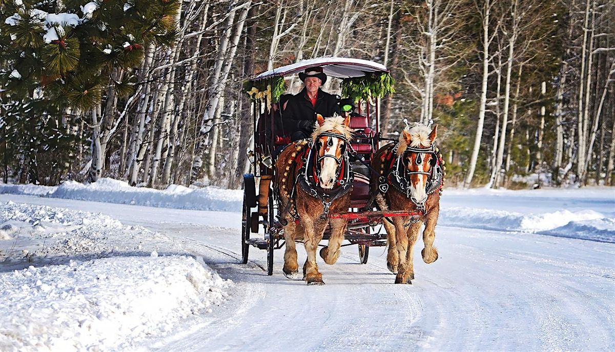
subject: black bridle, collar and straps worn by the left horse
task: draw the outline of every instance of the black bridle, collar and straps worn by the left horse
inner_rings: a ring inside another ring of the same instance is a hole
[[[339,138],[346,142],[344,144],[342,155],[339,158],[328,154],[319,156],[318,144],[315,143],[315,141],[309,140],[309,148],[306,148],[304,153],[298,155],[298,158],[296,159],[296,165],[300,168],[296,174],[296,180],[293,183],[293,190],[290,194],[290,200],[291,202],[295,202],[296,185],[300,185],[306,193],[322,202],[323,212],[320,215],[320,218],[325,219],[329,214],[329,207],[331,206],[331,203],[333,203],[336,199],[341,198],[341,196],[344,196],[352,189],[352,179],[354,178],[354,174],[352,172],[351,162],[349,161],[349,154],[346,148],[346,145],[349,145],[346,136],[335,132],[325,131],[318,135],[317,140],[323,136],[329,137],[327,142],[329,146],[333,145],[331,137]],[[335,187],[332,190],[325,190],[319,186],[320,161],[325,158],[335,159],[338,165],[336,170],[338,179],[336,180]],[[290,206],[290,202],[288,205]],[[293,218],[298,219],[299,215],[296,212],[296,206],[294,207],[294,210],[294,214],[291,215]]]

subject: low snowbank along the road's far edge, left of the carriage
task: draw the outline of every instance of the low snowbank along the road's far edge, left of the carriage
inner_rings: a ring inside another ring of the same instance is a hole
[[[1,193],[36,194],[81,201],[234,212],[241,211],[244,199],[242,191],[239,190],[223,190],[213,187],[192,189],[171,185],[167,190],[161,191],[153,188],[133,187],[127,182],[113,178],[101,178],[89,185],[66,181],[57,187],[1,184]]]

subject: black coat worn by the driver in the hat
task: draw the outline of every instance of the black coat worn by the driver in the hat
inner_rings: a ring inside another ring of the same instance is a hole
[[[285,134],[292,135],[293,132],[300,130],[298,126],[299,121],[315,122],[317,113],[321,114],[323,118],[333,116],[334,113],[339,114],[338,98],[319,89],[316,105],[312,106],[305,88],[298,94],[293,95],[288,100],[288,105],[282,113]],[[309,135],[312,133],[312,130],[304,130],[304,132]]]

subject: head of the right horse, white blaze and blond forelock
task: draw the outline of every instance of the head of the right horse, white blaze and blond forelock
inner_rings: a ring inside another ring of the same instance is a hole
[[[427,181],[438,162],[435,154],[437,130],[438,125],[430,132],[427,126],[415,123],[404,129],[399,138],[397,156],[402,158],[405,166],[410,200],[418,207],[424,207],[427,201]]]

